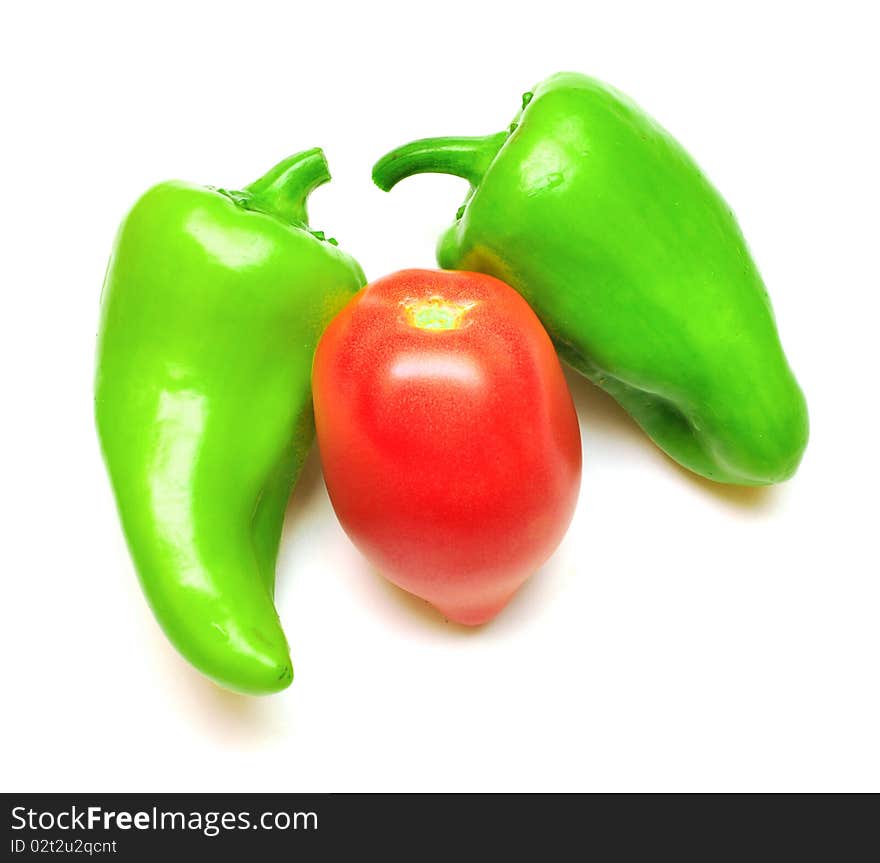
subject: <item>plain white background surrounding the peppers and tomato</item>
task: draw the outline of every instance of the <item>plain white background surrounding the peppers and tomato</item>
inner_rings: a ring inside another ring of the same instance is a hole
[[[5,4],[4,790],[880,788],[870,5]],[[320,145],[313,226],[370,278],[432,266],[464,182],[385,195],[373,161],[503,128],[559,69],[632,95],[737,212],[810,404],[800,472],[695,479],[572,377],[569,535],[467,631],[370,570],[313,456],[278,571],[296,680],[219,691],[149,614],[93,430],[116,225],[159,180]]]

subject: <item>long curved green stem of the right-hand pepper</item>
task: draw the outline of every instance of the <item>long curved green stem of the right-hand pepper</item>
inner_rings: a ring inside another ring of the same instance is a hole
[[[477,186],[507,132],[481,138],[423,138],[386,153],[373,166],[373,182],[388,192],[413,174],[453,174]]]

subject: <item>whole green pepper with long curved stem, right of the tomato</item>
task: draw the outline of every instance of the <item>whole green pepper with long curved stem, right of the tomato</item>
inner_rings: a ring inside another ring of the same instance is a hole
[[[442,267],[515,287],[560,355],[672,458],[710,479],[790,477],[807,408],[728,205],[626,96],[562,73],[505,132],[430,138],[374,167],[385,190],[422,172],[471,183]]]

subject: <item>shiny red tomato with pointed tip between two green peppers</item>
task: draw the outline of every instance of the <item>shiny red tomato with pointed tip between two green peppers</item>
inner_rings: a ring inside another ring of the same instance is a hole
[[[525,300],[478,273],[386,276],[324,333],[313,388],[355,545],[446,617],[494,617],[559,544],[580,486],[571,394]]]

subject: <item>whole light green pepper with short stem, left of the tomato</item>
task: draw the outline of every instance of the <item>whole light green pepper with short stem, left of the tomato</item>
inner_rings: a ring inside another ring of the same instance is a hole
[[[310,374],[364,284],[307,226],[320,150],[240,192],[150,189],[104,282],[95,415],[122,527],[175,647],[221,686],[293,677],[273,603],[284,511],[314,437]]]

